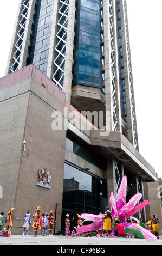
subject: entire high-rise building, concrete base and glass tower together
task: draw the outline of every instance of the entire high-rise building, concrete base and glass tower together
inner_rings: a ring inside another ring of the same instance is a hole
[[[3,104],[7,103],[8,111],[15,109],[12,118],[20,118],[22,124],[21,138],[17,133],[14,138],[19,142],[25,138],[29,144],[25,156],[16,144],[14,168],[18,169],[11,186],[19,209],[15,217],[23,214],[25,204],[30,209],[34,203],[42,204],[44,211],[57,205],[56,229],[64,230],[67,212],[75,220],[84,211],[104,211],[124,175],[127,199],[137,192],[142,193],[141,200],[146,199],[144,186],[157,177],[139,153],[133,87],[126,0],[20,0],[0,84],[8,92],[3,94]],[[29,98],[18,102],[20,95]],[[51,131],[53,111],[68,129]],[[69,112],[89,129],[82,129]],[[5,125],[3,133],[11,129]],[[36,185],[41,166],[50,169],[51,190]],[[9,172],[12,176],[12,168]],[[11,182],[3,179],[5,184]],[[137,217],[146,221],[146,210]]]

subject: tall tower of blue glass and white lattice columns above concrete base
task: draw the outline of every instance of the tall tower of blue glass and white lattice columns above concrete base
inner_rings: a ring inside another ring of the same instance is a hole
[[[20,1],[6,75],[31,63],[138,149],[126,0]]]

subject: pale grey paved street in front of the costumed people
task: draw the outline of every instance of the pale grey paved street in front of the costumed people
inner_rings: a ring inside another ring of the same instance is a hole
[[[11,237],[0,237],[0,245],[54,245],[58,248],[66,248],[66,246],[78,246],[81,245],[84,248],[88,245],[92,248],[99,246],[109,245],[162,245],[162,237],[159,240],[146,240],[146,239],[134,239],[134,238],[98,238],[98,237],[66,237],[66,236],[41,236],[34,235],[22,236],[11,235]],[[70,248],[70,247],[68,247]],[[76,247],[77,248],[77,247]]]

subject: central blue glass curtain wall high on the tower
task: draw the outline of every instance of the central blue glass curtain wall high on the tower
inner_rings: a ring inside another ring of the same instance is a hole
[[[102,89],[100,1],[76,1],[73,86]]]

